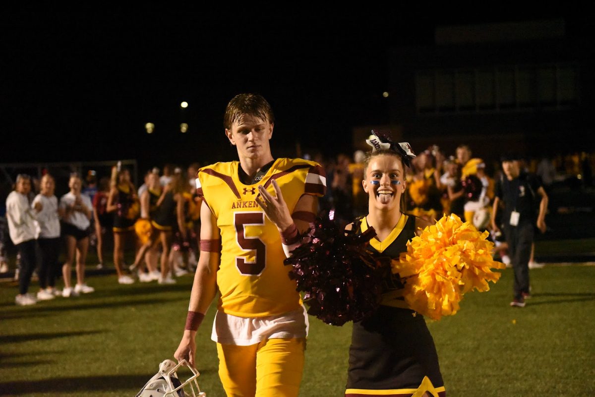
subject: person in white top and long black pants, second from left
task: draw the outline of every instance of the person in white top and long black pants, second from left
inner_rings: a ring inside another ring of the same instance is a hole
[[[39,223],[39,250],[41,252],[41,266],[39,268],[39,286],[37,300],[54,299],[60,291],[55,288],[56,270],[58,269],[58,255],[60,254],[60,218],[58,218],[58,198],[54,196],[54,177],[43,175],[40,182],[41,193],[33,199],[33,208],[39,207],[37,223]]]

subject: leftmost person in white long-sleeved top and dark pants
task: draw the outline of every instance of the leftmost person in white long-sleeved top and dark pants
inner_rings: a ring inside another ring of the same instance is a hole
[[[18,295],[15,297],[17,305],[33,305],[36,298],[28,294],[31,276],[37,264],[36,240],[39,235],[36,212],[42,210],[42,204],[37,203],[32,208],[27,196],[31,191],[31,177],[17,175],[15,190],[6,198],[6,218],[8,232],[12,243],[17,247],[21,257],[21,268],[18,275]]]

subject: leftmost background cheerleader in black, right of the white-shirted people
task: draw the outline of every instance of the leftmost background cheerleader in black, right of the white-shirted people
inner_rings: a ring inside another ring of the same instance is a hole
[[[124,242],[134,238],[134,222],[138,216],[139,203],[127,169],[112,168],[107,211],[114,214],[114,267],[118,273],[118,283],[131,284],[134,279],[125,275],[122,270]]]

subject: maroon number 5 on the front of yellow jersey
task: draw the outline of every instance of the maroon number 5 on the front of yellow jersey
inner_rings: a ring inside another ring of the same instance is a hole
[[[254,251],[254,261],[247,261],[243,256],[236,257],[237,270],[245,276],[259,276],[266,266],[267,246],[258,237],[246,237],[246,226],[264,226],[264,212],[236,212],[233,223],[237,245],[242,250]]]

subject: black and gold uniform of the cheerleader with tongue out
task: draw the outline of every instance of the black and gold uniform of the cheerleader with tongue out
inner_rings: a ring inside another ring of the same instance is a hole
[[[368,229],[366,218],[359,229]],[[384,241],[373,238],[369,250],[392,258],[415,237],[415,217],[403,214]],[[399,282],[383,294],[371,318],[353,324],[345,395],[411,397],[427,391],[446,396],[434,340],[421,314],[407,307]]]

